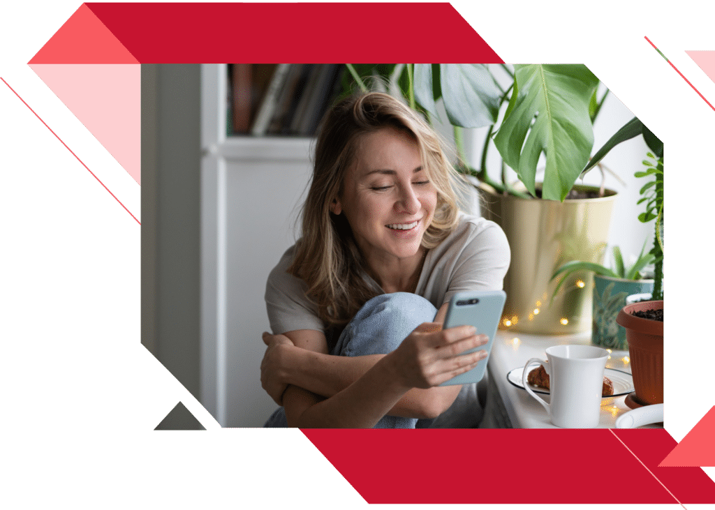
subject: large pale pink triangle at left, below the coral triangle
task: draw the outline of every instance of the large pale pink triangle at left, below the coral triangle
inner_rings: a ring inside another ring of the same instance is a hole
[[[141,64],[29,66],[141,185]]]

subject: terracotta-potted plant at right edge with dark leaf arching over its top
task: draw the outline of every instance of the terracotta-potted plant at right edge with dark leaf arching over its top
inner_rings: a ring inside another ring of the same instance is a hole
[[[641,188],[640,202],[646,202],[646,211],[638,216],[641,221],[655,219],[654,241],[651,256],[654,258],[654,287],[651,301],[627,304],[618,312],[616,322],[626,329],[628,352],[633,372],[635,397],[626,399],[631,407],[644,404],[662,404],[664,400],[664,252],[665,252],[665,169],[663,143],[638,119],[623,126],[606,145],[596,153],[593,160],[600,159],[622,141],[642,134],[649,149],[645,160],[647,169],[638,176],[651,180]],[[584,171],[588,171],[586,166]]]

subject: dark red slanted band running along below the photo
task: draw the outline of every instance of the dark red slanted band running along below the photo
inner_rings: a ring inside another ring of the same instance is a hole
[[[664,429],[302,433],[368,504],[715,502],[702,469],[658,467],[677,444]]]

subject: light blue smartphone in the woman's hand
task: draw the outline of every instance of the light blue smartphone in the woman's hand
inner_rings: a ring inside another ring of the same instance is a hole
[[[465,291],[452,296],[442,328],[474,326],[477,329],[477,334],[485,334],[489,337],[489,341],[485,345],[465,351],[463,354],[485,350],[487,357],[470,371],[459,374],[453,379],[443,382],[440,386],[475,383],[482,379],[505,301],[506,292],[504,291]]]

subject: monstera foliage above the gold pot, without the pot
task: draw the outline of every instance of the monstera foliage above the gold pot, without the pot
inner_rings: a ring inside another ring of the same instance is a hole
[[[435,118],[443,100],[448,121],[455,129],[460,170],[494,189],[526,198],[562,201],[588,162],[593,147],[593,119],[603,104],[598,100],[598,79],[581,64],[515,64],[502,66],[511,84],[503,87],[489,64],[347,64],[364,89],[363,76],[378,75],[393,90],[428,118]],[[508,107],[498,121],[502,104]],[[490,126],[478,169],[463,158],[462,128]],[[502,171],[501,181],[486,170],[489,141],[494,141],[503,162],[511,166],[528,191],[513,189]],[[536,186],[539,157],[546,155],[541,190]]]

